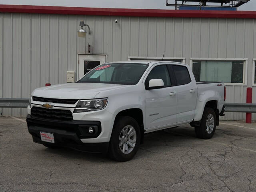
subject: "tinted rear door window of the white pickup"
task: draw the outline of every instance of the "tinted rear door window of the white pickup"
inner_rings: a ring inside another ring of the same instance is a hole
[[[176,77],[177,85],[184,85],[191,82],[188,69],[185,66],[173,65],[172,70]]]

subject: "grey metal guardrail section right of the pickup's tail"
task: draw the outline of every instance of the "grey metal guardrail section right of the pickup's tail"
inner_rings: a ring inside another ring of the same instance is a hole
[[[256,113],[255,103],[225,103],[225,112]]]

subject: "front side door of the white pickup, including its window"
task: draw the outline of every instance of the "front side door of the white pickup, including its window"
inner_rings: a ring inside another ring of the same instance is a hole
[[[173,86],[167,65],[154,66],[148,74],[150,79],[162,79],[164,88],[146,90],[146,128],[154,130],[176,123],[177,88]]]

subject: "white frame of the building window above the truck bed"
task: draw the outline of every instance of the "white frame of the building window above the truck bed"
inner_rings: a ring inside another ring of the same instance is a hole
[[[190,58],[190,67],[193,70],[193,61],[244,61],[243,83],[224,83],[226,86],[247,86],[248,58]]]

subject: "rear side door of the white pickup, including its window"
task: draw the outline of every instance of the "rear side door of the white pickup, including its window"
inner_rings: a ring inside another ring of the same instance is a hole
[[[197,99],[196,81],[192,81],[188,66],[172,64],[172,71],[177,88],[176,122],[193,120]]]

